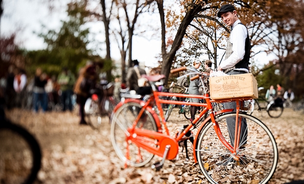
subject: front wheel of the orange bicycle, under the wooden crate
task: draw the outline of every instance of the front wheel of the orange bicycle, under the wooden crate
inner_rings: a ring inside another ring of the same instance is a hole
[[[235,119],[236,113],[227,113],[217,117],[217,122],[224,139],[231,144],[227,118]],[[239,113],[238,117],[246,119],[247,136],[243,136],[239,148],[239,160],[222,144],[210,121],[199,132],[197,141],[197,158],[201,171],[211,183],[267,183],[273,175],[278,152],[270,130],[258,119],[248,114]],[[245,131],[246,132],[246,131]]]

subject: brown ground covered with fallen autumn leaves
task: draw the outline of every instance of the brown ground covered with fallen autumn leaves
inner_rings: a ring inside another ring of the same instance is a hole
[[[185,152],[179,160],[166,160],[160,171],[151,169],[161,158],[155,156],[142,168],[124,167],[110,141],[110,125],[100,130],[80,126],[77,112],[47,112],[12,109],[6,116],[26,127],[37,138],[42,149],[42,167],[38,183],[208,183]],[[304,114],[285,109],[278,119],[266,112],[254,112],[273,133],[279,150],[279,161],[269,183],[304,180]],[[174,109],[168,120],[172,129],[188,121]],[[172,132],[175,133],[175,132]],[[181,150],[181,149],[180,149]]]

